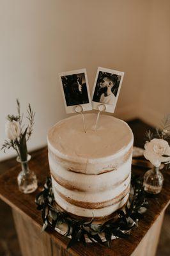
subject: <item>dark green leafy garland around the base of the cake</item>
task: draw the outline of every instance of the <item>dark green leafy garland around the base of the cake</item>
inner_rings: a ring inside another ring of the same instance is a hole
[[[116,211],[118,214],[116,220],[112,218],[103,224],[96,224],[93,218],[91,218],[91,221],[76,220],[68,212],[56,209],[51,179],[48,177],[43,186],[43,191],[36,195],[37,209],[42,211],[42,230],[45,230],[48,226],[55,229],[64,223],[67,227],[64,236],[70,237],[68,248],[78,241],[86,245],[86,237],[92,242],[103,244],[100,234],[104,234],[108,246],[111,244],[112,236],[128,237],[130,230],[137,227],[138,221],[143,218],[143,214],[148,208],[142,180],[132,179],[131,184],[130,197],[125,212],[118,210]]]

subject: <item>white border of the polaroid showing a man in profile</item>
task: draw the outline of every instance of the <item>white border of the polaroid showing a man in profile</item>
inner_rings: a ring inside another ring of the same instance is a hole
[[[113,69],[109,69],[109,68],[102,68],[102,67],[98,67],[97,69],[97,74],[96,74],[96,77],[95,77],[95,83],[93,85],[93,92],[92,92],[92,95],[91,95],[91,99],[92,99],[92,107],[93,109],[97,109],[98,110],[98,106],[101,105],[100,102],[96,102],[96,101],[93,101],[93,96],[94,96],[94,93],[95,93],[95,88],[97,86],[97,79],[98,79],[98,74],[99,72],[107,72],[107,73],[110,73],[110,74],[115,74],[115,75],[118,75],[118,76],[121,76],[121,80],[120,80],[120,84],[119,84],[119,88],[118,88],[118,93],[116,95],[116,100],[114,102],[114,105],[109,105],[109,104],[104,104],[105,105],[105,112],[109,112],[109,113],[114,113],[114,109],[116,108],[116,104],[117,104],[117,101],[118,101],[118,97],[119,97],[119,94],[120,94],[120,89],[121,89],[121,84],[122,84],[122,81],[123,81],[123,77],[124,77],[124,72],[121,72],[121,71],[118,71],[118,70],[113,70]]]

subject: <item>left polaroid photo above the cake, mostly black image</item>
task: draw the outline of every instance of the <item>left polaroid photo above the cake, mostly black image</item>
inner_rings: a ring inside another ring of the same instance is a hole
[[[75,113],[76,106],[83,111],[92,109],[86,68],[60,73],[59,81],[66,113]]]

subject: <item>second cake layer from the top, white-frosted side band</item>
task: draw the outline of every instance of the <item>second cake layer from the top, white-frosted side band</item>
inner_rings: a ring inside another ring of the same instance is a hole
[[[98,175],[87,175],[85,173],[76,173],[67,170],[49,155],[50,172],[58,184],[71,191],[89,193],[114,189],[121,185],[130,176],[131,162],[132,153],[127,161],[121,164],[116,170]]]

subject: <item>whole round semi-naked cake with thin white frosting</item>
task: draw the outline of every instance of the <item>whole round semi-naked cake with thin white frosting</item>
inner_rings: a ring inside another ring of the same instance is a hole
[[[47,135],[49,166],[56,203],[83,217],[105,217],[128,200],[133,134],[127,123],[109,115],[71,116]]]

